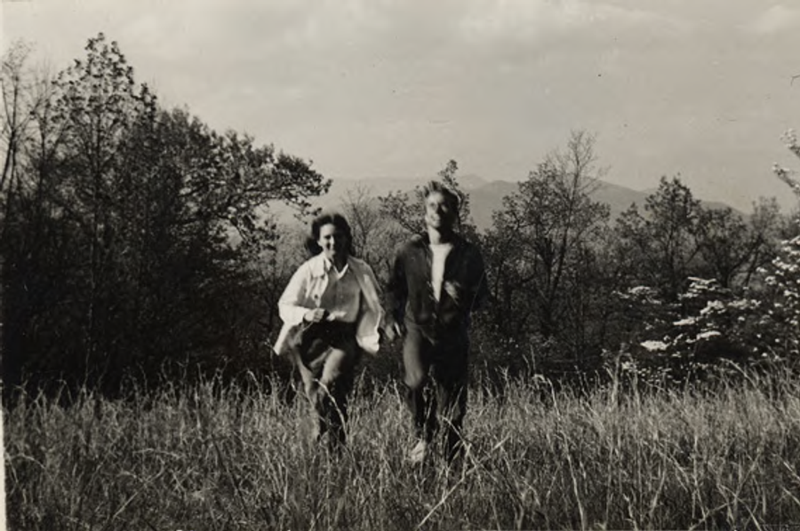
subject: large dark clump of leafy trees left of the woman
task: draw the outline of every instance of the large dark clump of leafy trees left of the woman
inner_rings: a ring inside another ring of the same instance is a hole
[[[276,252],[268,204],[306,211],[329,181],[158,107],[102,34],[51,86],[6,209],[4,374],[113,391],[168,360],[242,368],[263,356],[275,323],[251,316],[270,315],[253,289]]]

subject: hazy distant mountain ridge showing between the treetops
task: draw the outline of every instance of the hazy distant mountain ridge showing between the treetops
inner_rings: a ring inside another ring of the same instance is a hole
[[[364,178],[364,179],[334,179],[328,194],[314,201],[314,205],[323,210],[340,210],[342,202],[348,192],[355,193],[361,189],[365,194],[372,196],[386,195],[389,192],[411,192],[415,186],[424,185],[429,178]],[[488,181],[480,176],[468,174],[459,176],[459,182],[469,194],[472,218],[480,230],[492,226],[492,213],[503,206],[503,198],[518,191],[516,182],[505,180]],[[641,209],[645,199],[655,190],[640,191],[626,186],[614,185],[599,181],[597,189],[592,194],[598,202],[604,202],[611,209],[612,218],[616,218],[631,204],[636,203]],[[728,205],[722,202],[703,202],[708,208],[725,208]],[[278,218],[287,220],[291,218],[290,211],[285,207],[273,209]],[[743,214],[742,214],[743,215]]]

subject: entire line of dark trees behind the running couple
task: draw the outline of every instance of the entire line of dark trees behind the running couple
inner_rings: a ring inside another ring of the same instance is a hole
[[[15,45],[0,72],[6,390],[114,394],[126,382],[283,370],[269,350],[276,300],[304,257],[301,234],[273,208],[308,220],[330,180],[300,156],[164,108],[102,34],[57,75],[30,67],[29,55]],[[457,173],[451,161],[437,177],[460,194],[460,230],[488,268],[492,303],[473,335],[484,367],[663,372],[709,355],[796,354],[800,244],[776,202],[743,217],[661,178],[644,205],[612,219],[592,199],[603,177],[595,139],[577,131],[479,232]],[[356,188],[341,204],[356,253],[379,275],[420,230],[419,193]],[[759,324],[767,311],[772,321]]]

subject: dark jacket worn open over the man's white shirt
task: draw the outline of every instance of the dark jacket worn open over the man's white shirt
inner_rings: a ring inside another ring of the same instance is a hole
[[[414,236],[397,251],[387,288],[388,319],[432,332],[466,330],[469,313],[488,298],[484,259],[475,245],[454,234],[438,301],[432,259],[427,234]]]

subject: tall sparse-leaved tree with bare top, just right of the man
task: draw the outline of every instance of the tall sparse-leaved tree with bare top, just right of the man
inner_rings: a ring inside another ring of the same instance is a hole
[[[598,242],[609,217],[608,206],[590,196],[602,174],[594,146],[593,136],[573,132],[503,199],[485,239],[495,326],[515,337],[556,339],[577,356],[592,343],[575,332],[598,287]]]

